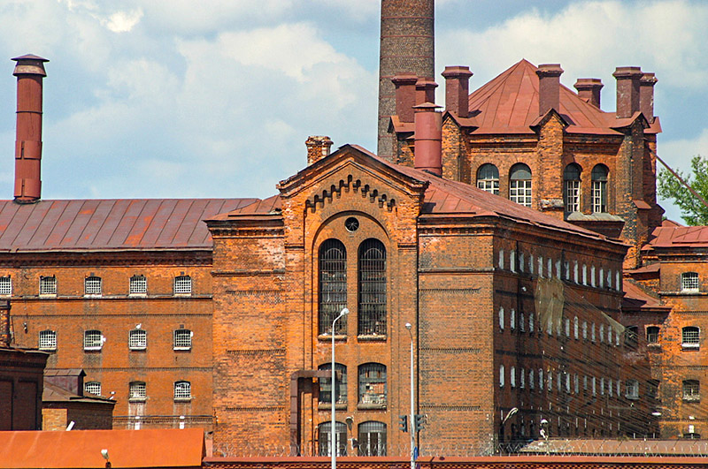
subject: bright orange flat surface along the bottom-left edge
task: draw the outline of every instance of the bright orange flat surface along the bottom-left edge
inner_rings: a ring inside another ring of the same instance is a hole
[[[0,432],[0,469],[201,467],[204,430]]]

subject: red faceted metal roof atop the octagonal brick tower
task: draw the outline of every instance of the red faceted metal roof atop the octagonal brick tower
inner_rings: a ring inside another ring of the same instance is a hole
[[[475,119],[473,133],[532,133],[538,115],[537,67],[522,59],[469,96],[470,115]],[[569,125],[566,132],[619,134],[614,130],[636,117],[617,119],[582,100],[567,87],[560,86],[560,115]],[[658,126],[658,121],[655,120]],[[647,132],[656,131],[652,125]]]

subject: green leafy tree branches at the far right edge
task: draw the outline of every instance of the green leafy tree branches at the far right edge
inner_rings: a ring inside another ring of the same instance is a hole
[[[708,158],[696,155],[691,159],[691,171],[682,173],[676,170],[676,174],[681,177],[686,184],[693,187],[696,193],[700,194],[704,200],[708,200]],[[671,171],[662,168],[658,172],[657,192],[659,197],[666,200],[673,200],[676,207],[681,209],[681,216],[689,225],[708,224],[708,207],[704,201],[696,194],[691,193],[688,187],[681,184],[681,181],[671,174]]]

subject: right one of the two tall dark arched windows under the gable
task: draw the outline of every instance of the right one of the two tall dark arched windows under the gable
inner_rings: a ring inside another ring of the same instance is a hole
[[[386,247],[378,239],[359,246],[358,335],[386,335]]]

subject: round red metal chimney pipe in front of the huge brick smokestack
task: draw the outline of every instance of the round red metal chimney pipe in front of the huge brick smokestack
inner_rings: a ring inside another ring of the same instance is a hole
[[[415,168],[443,175],[443,115],[433,102],[415,106]]]

